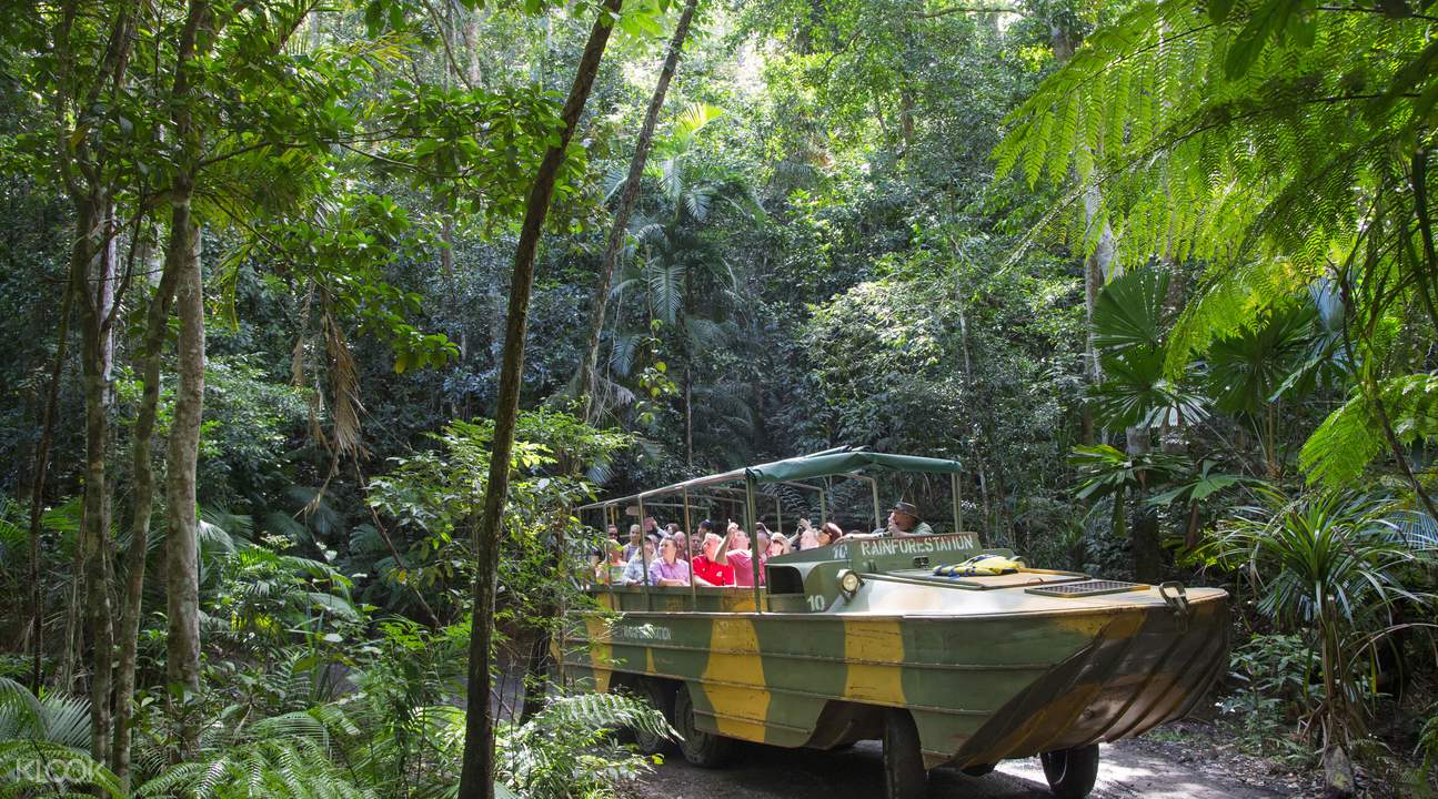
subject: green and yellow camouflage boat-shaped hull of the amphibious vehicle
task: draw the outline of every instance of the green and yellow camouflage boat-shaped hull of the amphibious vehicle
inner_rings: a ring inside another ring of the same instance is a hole
[[[683,685],[696,729],[788,747],[877,739],[903,708],[926,767],[982,767],[1182,717],[1227,665],[1222,591],[933,575],[976,552],[1005,553],[876,539],[777,558],[758,592],[597,588],[559,642],[565,678],[661,706]]]

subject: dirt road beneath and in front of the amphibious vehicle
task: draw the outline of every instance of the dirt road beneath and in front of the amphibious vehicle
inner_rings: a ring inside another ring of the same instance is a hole
[[[720,770],[690,766],[672,753],[644,780],[644,799],[876,799],[883,795],[880,750],[863,742],[847,752],[810,752],[743,744]],[[1261,799],[1301,796],[1254,767],[1206,757],[1181,744],[1125,740],[1104,744],[1093,799]],[[1014,760],[984,777],[953,769],[932,773],[930,799],[1051,799],[1038,759]]]

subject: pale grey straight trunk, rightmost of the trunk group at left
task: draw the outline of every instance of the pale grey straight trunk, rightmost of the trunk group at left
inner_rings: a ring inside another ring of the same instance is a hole
[[[175,203],[167,256],[175,263],[177,345],[174,422],[165,461],[165,678],[187,693],[200,690],[200,560],[196,509],[196,461],[204,410],[204,287],[200,231],[188,203]],[[193,752],[197,730],[186,714],[181,754]]]

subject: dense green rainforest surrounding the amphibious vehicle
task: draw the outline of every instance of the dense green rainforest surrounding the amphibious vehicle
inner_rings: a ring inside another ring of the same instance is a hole
[[[610,795],[571,509],[834,445],[1431,790],[1435,9],[7,6],[0,796]]]

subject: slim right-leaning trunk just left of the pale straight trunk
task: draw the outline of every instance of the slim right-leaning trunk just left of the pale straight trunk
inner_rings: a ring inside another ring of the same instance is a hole
[[[160,405],[160,361],[175,293],[177,263],[165,257],[160,283],[145,313],[145,333],[135,361],[141,374],[139,410],[131,441],[134,516],[129,523],[129,552],[125,556],[125,596],[119,616],[119,670],[115,674],[114,772],[121,793],[129,793],[131,717],[135,696],[135,657],[139,648],[139,619],[145,588],[145,555],[150,549],[150,519],[154,514],[154,431]]]

